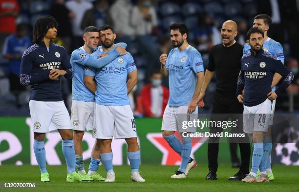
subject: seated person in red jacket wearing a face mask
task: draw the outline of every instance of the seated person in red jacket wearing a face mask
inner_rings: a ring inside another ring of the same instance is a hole
[[[162,84],[160,71],[150,77],[151,83],[145,85],[140,93],[141,109],[144,116],[162,117],[169,98],[169,90]]]

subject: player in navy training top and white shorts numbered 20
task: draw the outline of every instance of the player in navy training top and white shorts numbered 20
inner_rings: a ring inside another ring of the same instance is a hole
[[[271,105],[273,100],[290,85],[294,75],[275,56],[264,52],[262,30],[250,28],[246,38],[251,49],[250,53],[241,59],[236,95],[238,101],[244,104],[243,129],[245,133],[251,135],[254,150],[251,172],[242,181],[265,182],[269,181],[269,177],[266,173],[266,162],[262,160],[268,158],[267,155],[263,155],[265,147],[263,137],[264,133],[268,132]],[[271,85],[275,73],[283,76],[283,81],[278,89],[272,91]],[[260,170],[260,175],[256,178],[257,169]]]

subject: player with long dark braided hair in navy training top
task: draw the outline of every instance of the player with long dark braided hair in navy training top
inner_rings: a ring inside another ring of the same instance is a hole
[[[57,21],[51,16],[38,19],[33,28],[33,45],[21,59],[20,83],[31,85],[29,101],[34,154],[41,170],[41,181],[49,182],[46,170],[45,133],[58,131],[67,165],[67,182],[86,181],[75,172],[75,151],[70,118],[61,93],[60,76],[73,77],[65,49],[52,42],[56,38]],[[88,179],[89,180],[89,179]]]

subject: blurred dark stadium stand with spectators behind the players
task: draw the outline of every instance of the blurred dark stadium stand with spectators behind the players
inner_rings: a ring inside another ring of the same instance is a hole
[[[58,38],[68,53],[82,46],[83,40],[77,30],[87,25],[99,27],[110,24],[118,34],[116,42],[128,43],[128,52],[133,55],[138,69],[138,83],[131,100],[136,100],[142,87],[149,83],[152,71],[160,68],[159,56],[171,49],[169,25],[184,22],[189,29],[188,41],[202,54],[205,67],[208,64],[210,48],[221,43],[220,28],[223,21],[238,23],[237,42],[244,44],[247,30],[257,14],[268,14],[273,19],[268,36],[280,42],[284,49],[285,65],[295,74],[293,84],[287,93],[277,100],[276,113],[298,113],[299,111],[299,0],[83,0],[84,13],[75,6],[74,0],[19,0],[20,10],[15,23],[27,25],[27,35],[32,35],[35,21],[44,15],[52,15],[59,22]],[[5,0],[0,0],[3,6]],[[78,3],[78,1],[77,1]],[[144,17],[141,17],[144,16]],[[81,18],[79,21],[76,17]],[[3,22],[1,23],[3,26]],[[76,24],[76,27],[74,27]],[[1,26],[1,28],[2,28]],[[4,23],[5,26],[5,23]],[[142,28],[144,26],[145,28]],[[3,28],[2,28],[3,29]],[[4,39],[11,33],[0,30],[0,50]],[[0,56],[0,116],[29,116],[29,87],[26,90],[11,91],[10,61]],[[71,81],[61,78],[64,102],[68,109],[71,103]],[[168,79],[163,79],[168,86]],[[208,91],[213,94],[215,82]],[[209,113],[211,97],[206,98],[206,108],[200,113]],[[136,104],[133,105],[136,107]]]

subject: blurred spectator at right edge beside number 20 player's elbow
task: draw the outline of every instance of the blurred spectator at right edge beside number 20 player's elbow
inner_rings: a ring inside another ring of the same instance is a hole
[[[296,58],[289,58],[285,63],[291,72],[294,74],[295,78],[292,84],[287,88],[287,92],[292,95],[298,95],[299,93],[299,74],[298,74],[298,60]]]

